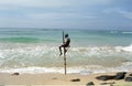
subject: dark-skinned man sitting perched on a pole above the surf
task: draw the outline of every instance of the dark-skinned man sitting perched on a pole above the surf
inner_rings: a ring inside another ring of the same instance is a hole
[[[64,42],[64,44],[62,44],[61,46],[59,46],[59,52],[61,52],[61,54],[59,54],[59,56],[63,54],[62,53],[62,47],[64,47],[64,53],[66,53],[67,52],[67,47],[69,47],[69,43],[70,43],[70,39],[69,39],[69,36],[68,36],[68,33],[66,33],[65,34],[65,42]]]

